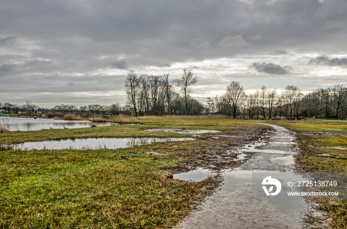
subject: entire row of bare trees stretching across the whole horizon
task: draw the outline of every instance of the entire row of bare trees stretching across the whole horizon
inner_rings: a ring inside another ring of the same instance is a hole
[[[220,114],[240,119],[297,119],[313,116],[341,118],[347,115],[347,88],[343,85],[319,88],[305,95],[293,85],[288,85],[281,93],[262,86],[255,93],[246,94],[239,82],[232,81],[223,95],[207,98],[207,104],[203,104],[190,96],[191,87],[196,82],[197,77],[194,77],[193,72],[184,69],[181,80],[176,85],[181,90],[179,94],[174,91],[169,74],[137,75],[131,70],[125,80],[128,101],[124,106],[119,103],[81,107],[61,104],[50,109],[38,107],[27,100],[21,106],[0,102],[0,108],[7,113],[58,112],[135,116]]]

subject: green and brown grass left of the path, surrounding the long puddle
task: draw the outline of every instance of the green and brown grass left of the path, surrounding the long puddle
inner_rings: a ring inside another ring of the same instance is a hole
[[[142,122],[146,124],[1,133],[0,142],[184,137],[143,131],[182,127],[248,136],[260,126],[231,120]],[[173,227],[219,180],[182,182],[172,179],[166,170],[222,144],[226,141],[198,139],[115,150],[0,151],[0,228]]]

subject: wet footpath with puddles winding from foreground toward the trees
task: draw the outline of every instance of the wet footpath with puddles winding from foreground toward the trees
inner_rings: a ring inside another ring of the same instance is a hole
[[[304,222],[312,209],[303,198],[290,202],[252,198],[252,172],[286,172],[295,176],[293,133],[276,125],[268,126],[274,128],[271,139],[266,144],[255,143],[238,149],[253,156],[236,169],[224,171],[221,187],[176,228],[296,229],[308,226]]]

